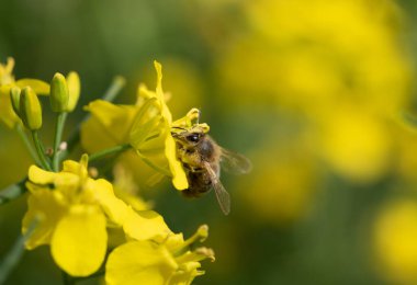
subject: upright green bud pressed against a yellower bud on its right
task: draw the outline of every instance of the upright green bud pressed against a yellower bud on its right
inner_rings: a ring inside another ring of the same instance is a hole
[[[54,112],[66,112],[69,101],[67,81],[61,73],[55,73],[50,81],[50,107]]]

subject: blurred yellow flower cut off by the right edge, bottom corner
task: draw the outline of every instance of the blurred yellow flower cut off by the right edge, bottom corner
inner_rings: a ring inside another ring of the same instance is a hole
[[[417,282],[417,202],[397,200],[379,213],[373,227],[376,264],[394,284]]]

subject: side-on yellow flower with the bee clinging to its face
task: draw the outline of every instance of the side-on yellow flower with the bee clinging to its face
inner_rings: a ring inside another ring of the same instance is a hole
[[[171,136],[172,115],[162,91],[160,64],[155,61],[155,68],[156,91],[140,84],[135,105],[114,105],[102,100],[88,105],[92,117],[81,127],[81,142],[89,151],[128,142],[143,161],[171,176],[176,189],[184,190],[188,181]]]

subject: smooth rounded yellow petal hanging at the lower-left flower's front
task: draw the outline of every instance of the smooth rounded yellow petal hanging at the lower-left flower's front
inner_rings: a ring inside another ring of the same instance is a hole
[[[108,248],[105,217],[97,206],[72,206],[57,225],[50,242],[55,262],[72,276],[99,270]]]

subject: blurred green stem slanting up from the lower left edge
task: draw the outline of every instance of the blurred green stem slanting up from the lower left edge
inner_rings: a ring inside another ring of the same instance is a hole
[[[35,218],[34,220],[32,220],[32,223],[30,224],[27,228],[27,231],[23,236],[19,237],[19,239],[14,242],[11,250],[2,260],[0,264],[0,284],[3,284],[5,282],[10,273],[18,265],[19,261],[21,260],[24,253],[24,243],[32,236],[38,221],[40,221],[38,218]]]

